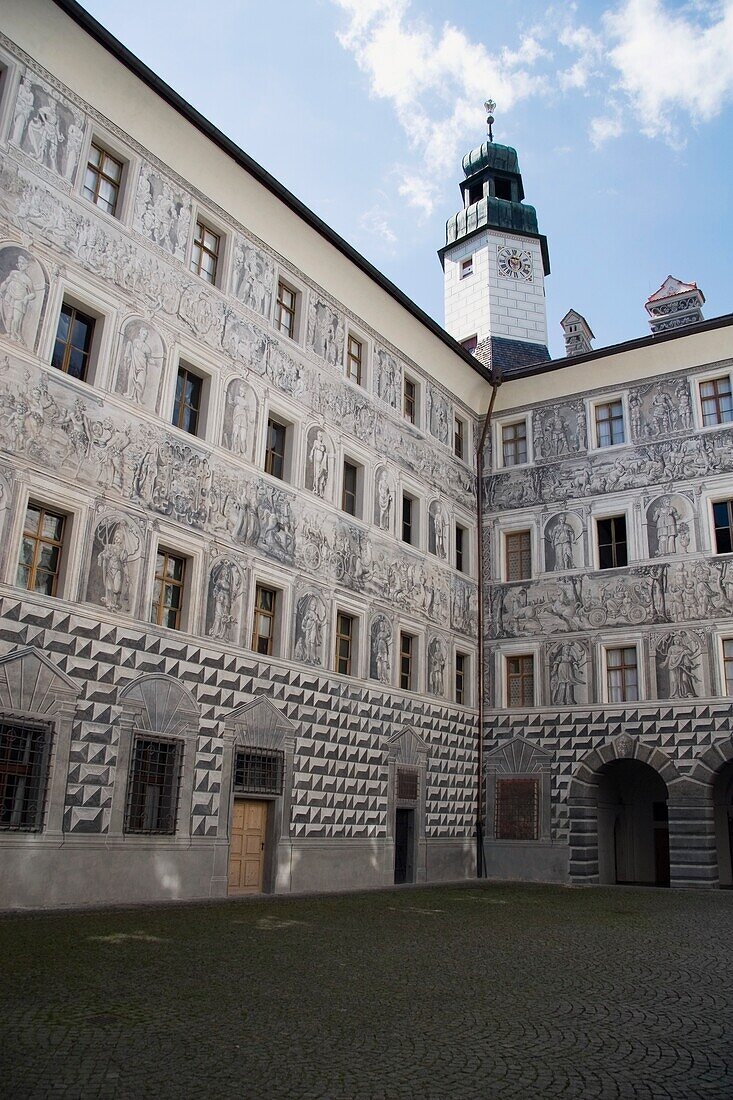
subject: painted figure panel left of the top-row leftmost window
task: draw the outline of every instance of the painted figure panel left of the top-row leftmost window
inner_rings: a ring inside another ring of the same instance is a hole
[[[51,172],[72,180],[84,143],[84,116],[25,74],[18,89],[10,141]]]

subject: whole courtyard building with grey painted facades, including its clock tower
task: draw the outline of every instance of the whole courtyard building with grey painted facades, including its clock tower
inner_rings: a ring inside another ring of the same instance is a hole
[[[3,906],[733,884],[733,317],[669,276],[551,360],[517,153],[463,175],[442,329],[6,4]]]

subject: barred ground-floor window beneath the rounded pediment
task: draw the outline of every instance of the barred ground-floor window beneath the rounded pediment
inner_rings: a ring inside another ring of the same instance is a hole
[[[172,836],[176,831],[180,741],[135,737],[130,767],[125,833],[157,833]]]

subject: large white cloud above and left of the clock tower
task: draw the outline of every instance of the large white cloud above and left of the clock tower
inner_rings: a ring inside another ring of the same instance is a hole
[[[543,89],[534,66],[548,55],[534,34],[516,50],[490,54],[451,23],[438,31],[414,14],[409,0],[333,0],[349,21],[339,34],[369,78],[370,91],[389,100],[419,169],[406,169],[401,194],[431,213],[437,182],[455,173],[467,143],[484,127],[483,100],[502,111]]]

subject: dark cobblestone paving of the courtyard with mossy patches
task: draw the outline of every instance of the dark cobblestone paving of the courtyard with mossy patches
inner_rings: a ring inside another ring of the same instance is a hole
[[[733,1097],[733,893],[0,920],[0,1097]]]

